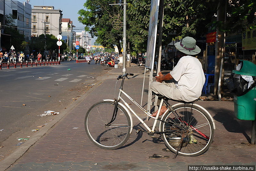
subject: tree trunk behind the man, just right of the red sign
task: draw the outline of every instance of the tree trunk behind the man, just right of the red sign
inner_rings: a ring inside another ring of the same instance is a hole
[[[225,0],[220,0],[217,9],[217,22],[224,24],[225,20]],[[218,94],[218,84],[220,77],[220,63],[224,50],[224,32],[217,28],[215,44],[215,72],[214,72],[214,95]]]

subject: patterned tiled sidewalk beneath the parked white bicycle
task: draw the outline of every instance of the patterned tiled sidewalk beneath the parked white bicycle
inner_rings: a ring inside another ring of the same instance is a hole
[[[133,67],[130,70],[130,72],[138,74],[144,72],[139,67]],[[197,102],[211,113],[216,124],[214,142],[206,153],[197,157],[178,156],[175,160],[172,159],[173,153],[162,151],[162,148],[165,147],[162,139],[152,139],[146,133],[134,134],[136,129],[144,128],[136,118],[133,120],[135,126],[132,135],[122,148],[104,150],[93,145],[84,131],[84,116],[92,104],[102,99],[114,98],[116,78],[111,77],[110,74],[109,78],[103,81],[93,93],[52,127],[7,170],[179,171],[188,170],[188,165],[256,165],[256,148],[246,145],[247,139],[251,136],[251,122],[237,120],[234,116],[233,102],[229,101]],[[124,83],[124,91],[138,102],[140,102],[142,82],[143,75],[138,75]],[[117,82],[117,89],[119,84],[120,82]],[[147,88],[148,85],[145,87]],[[146,104],[146,100],[145,93],[143,104]],[[146,119],[145,115],[141,112],[138,113],[141,118]],[[151,125],[152,122],[153,120],[150,119],[147,124]],[[78,129],[72,129],[74,127],[78,127]],[[169,155],[170,158],[149,159],[148,156],[154,153]]]

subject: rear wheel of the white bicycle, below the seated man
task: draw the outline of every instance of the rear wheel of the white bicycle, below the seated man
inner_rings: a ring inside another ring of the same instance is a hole
[[[173,107],[173,110],[178,116],[170,112],[163,118],[169,124],[161,123],[162,131],[170,131],[162,134],[167,148],[176,153],[180,146],[178,154],[181,156],[198,156],[205,153],[214,136],[213,123],[208,113],[192,104],[179,104]]]

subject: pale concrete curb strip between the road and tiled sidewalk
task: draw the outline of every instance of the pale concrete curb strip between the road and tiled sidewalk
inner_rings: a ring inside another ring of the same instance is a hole
[[[94,89],[96,89],[103,80],[96,82],[96,85],[89,89],[81,98],[77,99],[73,104],[70,104],[67,109],[60,111],[60,114],[53,119],[52,123],[49,123],[44,126],[33,138],[28,139],[23,146],[20,146],[14,152],[12,152],[9,156],[7,156],[4,160],[0,161],[0,171],[5,171],[9,167],[12,166],[14,162],[16,162],[24,153],[28,151],[28,149],[33,146],[40,138],[44,136],[56,123],[58,123],[67,113],[69,113],[77,104],[79,104],[86,96],[88,96]]]

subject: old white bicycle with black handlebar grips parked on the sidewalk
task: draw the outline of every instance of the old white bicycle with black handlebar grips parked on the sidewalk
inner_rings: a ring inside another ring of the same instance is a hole
[[[210,113],[202,106],[193,102],[178,101],[175,105],[168,103],[167,97],[158,95],[161,99],[159,109],[163,103],[167,110],[162,117],[159,117],[160,110],[156,117],[152,117],[147,110],[135,102],[123,90],[124,79],[128,75],[119,75],[117,80],[122,79],[118,97],[114,100],[105,99],[92,105],[85,116],[85,131],[89,139],[100,148],[114,150],[123,146],[132,133],[132,114],[148,130],[149,136],[161,134],[167,148],[177,155],[197,156],[205,153],[210,147],[215,130],[215,124]],[[129,100],[137,105],[149,117],[154,118],[153,127],[149,127],[132,108],[124,101],[121,95],[124,94]],[[121,101],[124,103],[121,103]],[[156,130],[156,122],[160,121],[159,131]],[[137,130],[136,133],[142,130]],[[146,131],[143,131],[146,132]]]

